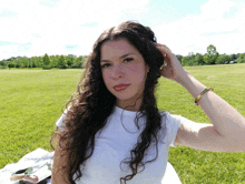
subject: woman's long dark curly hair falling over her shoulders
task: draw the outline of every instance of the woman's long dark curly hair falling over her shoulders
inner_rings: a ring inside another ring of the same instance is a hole
[[[154,160],[143,163],[144,154],[151,142],[156,142],[156,150],[158,151],[157,133],[163,125],[161,115],[156,104],[155,88],[160,76],[159,69],[164,64],[164,57],[155,45],[156,38],[150,28],[144,27],[138,22],[127,21],[100,34],[94,44],[92,53],[86,62],[86,70],[77,85],[77,92],[67,103],[67,106],[69,105],[70,108],[63,121],[66,130],[59,140],[65,145],[61,146],[60,144],[62,151],[65,151],[63,153],[67,153],[69,164],[66,171],[68,172],[68,180],[72,184],[82,176],[80,165],[92,155],[95,135],[106,125],[107,117],[112,113],[116,105],[116,98],[107,90],[102,80],[100,49],[106,41],[119,39],[126,39],[134,45],[149,67],[143,102],[135,119],[137,124],[138,119],[145,116],[146,126],[140,133],[137,144],[130,151],[131,157],[129,161],[121,161],[129,164],[131,174],[121,177],[120,182],[126,183],[126,181],[131,180],[137,173],[141,172],[138,171],[140,166],[144,170],[146,163],[157,159],[156,155]]]

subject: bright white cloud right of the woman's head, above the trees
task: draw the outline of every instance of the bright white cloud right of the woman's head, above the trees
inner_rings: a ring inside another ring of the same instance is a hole
[[[233,13],[232,9],[236,12]],[[183,55],[189,52],[205,53],[209,44],[214,44],[219,53],[244,52],[244,10],[245,3],[209,0],[200,7],[199,14],[187,16],[154,30],[159,42]],[[229,17],[225,17],[225,13]]]

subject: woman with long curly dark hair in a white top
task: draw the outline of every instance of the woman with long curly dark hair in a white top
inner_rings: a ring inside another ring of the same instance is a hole
[[[159,112],[154,92],[160,76],[182,84],[213,124]],[[159,184],[173,143],[245,151],[244,116],[205,89],[148,27],[128,21],[106,30],[57,122],[52,183]]]

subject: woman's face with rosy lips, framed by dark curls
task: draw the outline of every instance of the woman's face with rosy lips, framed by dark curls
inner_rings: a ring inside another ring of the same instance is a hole
[[[107,89],[117,98],[117,105],[138,111],[149,68],[143,55],[127,40],[106,41],[101,45],[100,65]],[[127,110],[127,109],[126,109]]]

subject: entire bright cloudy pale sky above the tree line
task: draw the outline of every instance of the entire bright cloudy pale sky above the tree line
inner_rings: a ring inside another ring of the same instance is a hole
[[[87,55],[99,34],[122,21],[150,27],[174,53],[245,52],[244,0],[0,0],[0,60]]]

